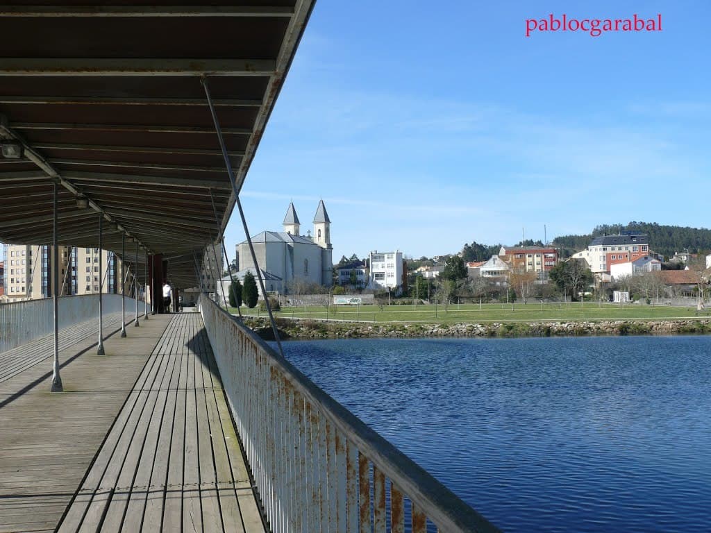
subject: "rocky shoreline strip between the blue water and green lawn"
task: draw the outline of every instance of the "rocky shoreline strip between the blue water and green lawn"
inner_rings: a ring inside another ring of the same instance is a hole
[[[260,337],[273,340],[265,318],[247,318],[245,324]],[[427,337],[576,337],[596,335],[700,335],[711,333],[711,320],[568,321],[503,323],[363,323],[325,322],[278,318],[283,339],[427,338]]]

